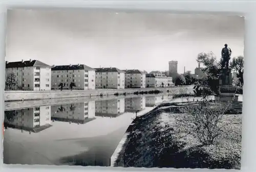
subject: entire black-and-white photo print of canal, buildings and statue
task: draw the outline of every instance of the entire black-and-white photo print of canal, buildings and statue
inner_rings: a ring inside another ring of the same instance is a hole
[[[241,169],[244,17],[13,9],[4,164]]]

